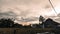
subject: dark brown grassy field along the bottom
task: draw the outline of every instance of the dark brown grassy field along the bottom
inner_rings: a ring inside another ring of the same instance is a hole
[[[59,30],[60,31],[60,30]],[[0,34],[38,34],[44,32],[59,33],[56,29],[52,28],[0,28]]]

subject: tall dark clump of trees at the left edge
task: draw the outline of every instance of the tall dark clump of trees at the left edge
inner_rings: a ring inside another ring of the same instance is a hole
[[[13,27],[14,21],[11,19],[0,19],[0,27]]]

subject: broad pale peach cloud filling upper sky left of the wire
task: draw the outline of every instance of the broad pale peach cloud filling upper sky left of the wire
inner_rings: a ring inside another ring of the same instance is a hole
[[[0,0],[0,5],[1,11],[6,12],[10,8],[17,15],[23,16],[26,16],[27,14],[32,14],[31,16],[46,15],[46,12],[51,10],[48,0]]]

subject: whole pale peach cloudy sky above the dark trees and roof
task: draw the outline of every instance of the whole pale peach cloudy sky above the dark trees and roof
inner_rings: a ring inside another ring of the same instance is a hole
[[[52,9],[49,0],[0,0],[0,17],[14,17],[15,22],[37,23],[40,15],[59,20],[60,0],[51,0],[57,14]],[[21,18],[22,17],[22,18]]]

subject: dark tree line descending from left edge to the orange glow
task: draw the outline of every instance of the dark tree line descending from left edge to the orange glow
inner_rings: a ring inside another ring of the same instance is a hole
[[[22,24],[15,23],[12,19],[5,19],[2,18],[0,19],[0,28],[30,28],[31,25],[29,26],[22,26]]]

